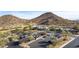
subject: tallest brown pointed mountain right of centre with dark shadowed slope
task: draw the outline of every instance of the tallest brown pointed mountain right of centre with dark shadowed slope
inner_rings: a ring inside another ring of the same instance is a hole
[[[34,19],[31,19],[33,23],[40,25],[62,25],[62,26],[72,26],[75,25],[74,21],[64,19],[60,16],[55,15],[52,12],[46,12]]]

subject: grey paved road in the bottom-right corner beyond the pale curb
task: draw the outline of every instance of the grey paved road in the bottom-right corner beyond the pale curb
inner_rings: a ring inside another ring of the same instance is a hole
[[[63,48],[79,48],[79,36]]]

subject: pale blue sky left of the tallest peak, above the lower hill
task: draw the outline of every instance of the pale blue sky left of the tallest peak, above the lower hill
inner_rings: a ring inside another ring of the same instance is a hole
[[[2,15],[14,15],[24,19],[32,19],[41,14],[45,13],[44,11],[0,11],[0,16]]]

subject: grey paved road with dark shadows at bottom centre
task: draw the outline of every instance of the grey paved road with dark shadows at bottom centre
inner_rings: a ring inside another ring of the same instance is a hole
[[[29,44],[30,48],[47,48],[50,44],[48,41],[51,41],[49,37],[46,37],[44,40],[38,39]]]

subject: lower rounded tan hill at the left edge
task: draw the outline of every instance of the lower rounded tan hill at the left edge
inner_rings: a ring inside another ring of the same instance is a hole
[[[0,27],[19,26],[27,23],[27,20],[18,18],[13,15],[3,15],[0,17]]]

